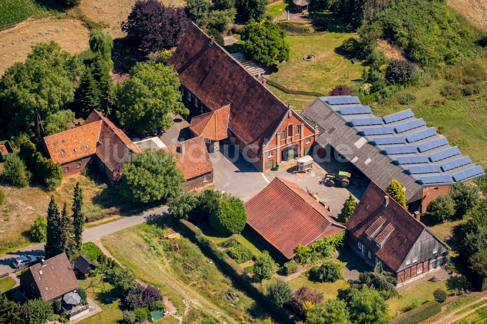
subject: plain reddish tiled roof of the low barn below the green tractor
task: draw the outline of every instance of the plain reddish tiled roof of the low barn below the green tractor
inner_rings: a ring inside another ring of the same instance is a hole
[[[274,178],[245,203],[247,225],[287,259],[296,247],[343,231],[330,213],[291,181]]]

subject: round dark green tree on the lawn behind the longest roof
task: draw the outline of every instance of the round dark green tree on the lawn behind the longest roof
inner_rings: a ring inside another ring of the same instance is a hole
[[[276,60],[282,62],[289,59],[289,45],[285,37],[284,30],[269,20],[256,22],[251,19],[241,34],[245,42],[245,55],[266,67]]]

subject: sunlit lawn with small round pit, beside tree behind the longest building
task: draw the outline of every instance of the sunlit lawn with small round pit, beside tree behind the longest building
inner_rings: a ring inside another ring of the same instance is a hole
[[[331,26],[330,30],[318,35],[286,36],[290,49],[289,60],[278,63],[269,79],[288,89],[323,94],[337,85],[353,86],[364,67],[361,62],[353,64],[351,57],[342,55],[339,49],[343,40],[353,36],[352,31],[333,13],[315,13],[314,17],[325,21]],[[303,56],[307,54],[315,55],[316,60],[304,61]]]

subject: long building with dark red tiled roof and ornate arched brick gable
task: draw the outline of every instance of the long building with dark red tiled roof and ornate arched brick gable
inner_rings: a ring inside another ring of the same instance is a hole
[[[188,106],[206,113],[229,105],[226,140],[237,144],[258,170],[308,154],[316,137],[314,127],[194,23],[169,65],[179,74]],[[204,118],[210,120],[209,116]],[[200,122],[192,123],[193,129]]]

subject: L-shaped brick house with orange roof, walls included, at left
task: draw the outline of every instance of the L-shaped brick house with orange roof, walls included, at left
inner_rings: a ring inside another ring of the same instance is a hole
[[[99,111],[93,110],[82,126],[46,136],[41,148],[59,162],[64,176],[80,173],[93,161],[111,182],[120,180],[122,165],[141,150]]]

